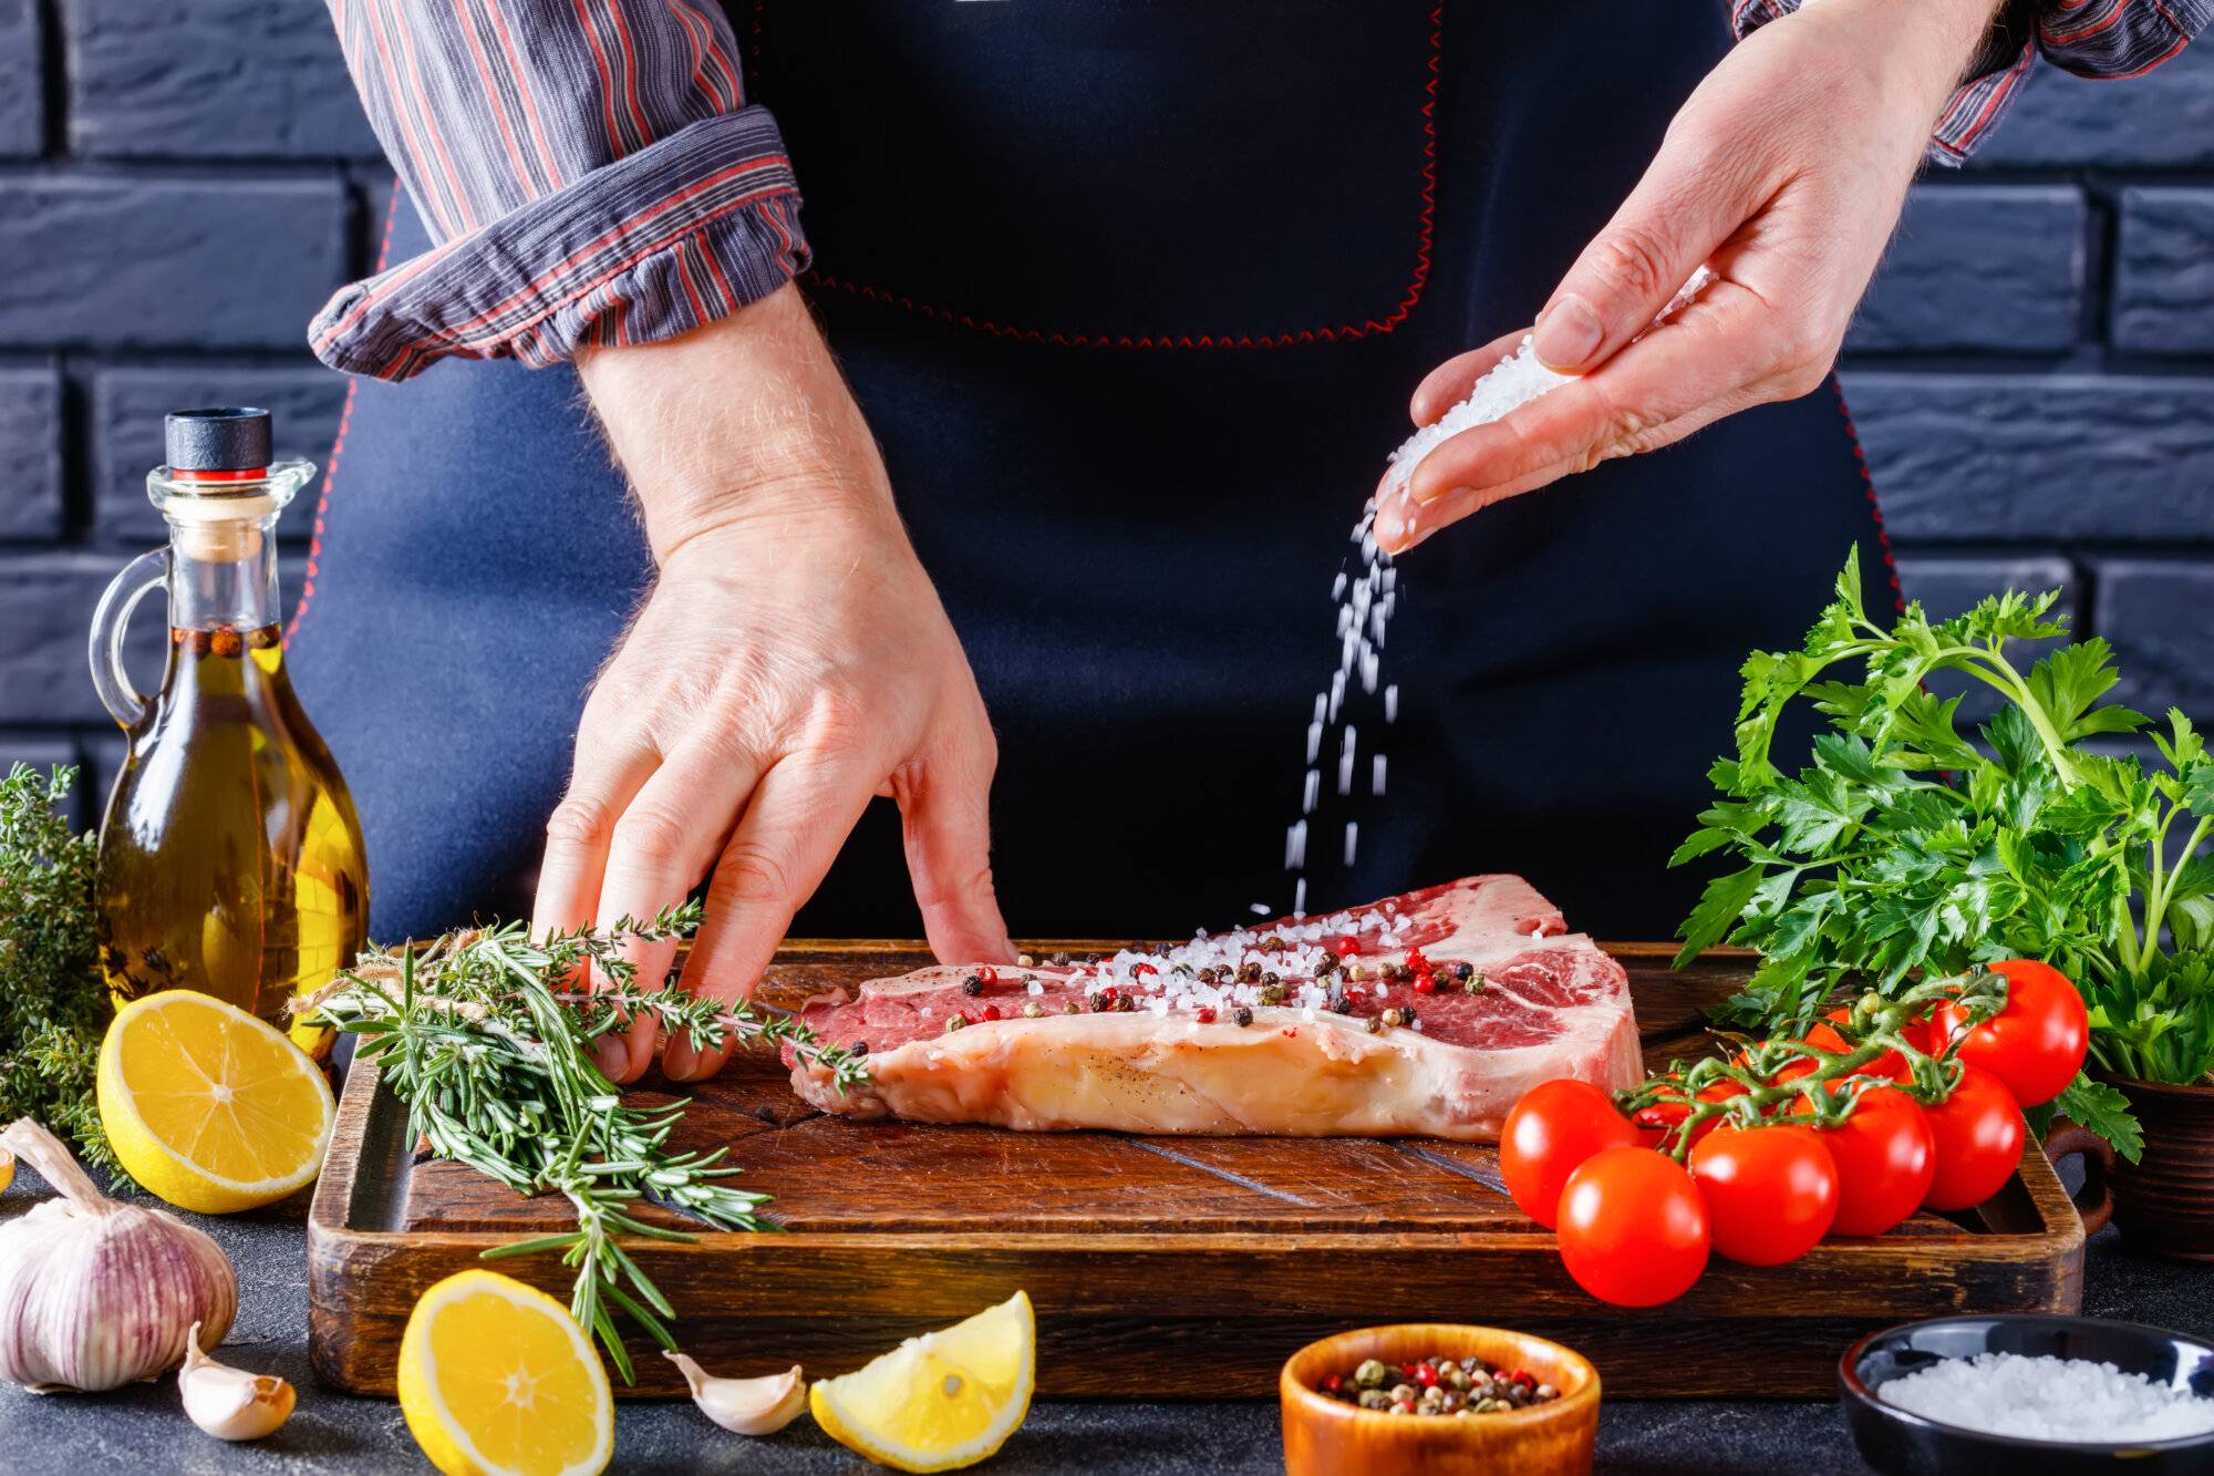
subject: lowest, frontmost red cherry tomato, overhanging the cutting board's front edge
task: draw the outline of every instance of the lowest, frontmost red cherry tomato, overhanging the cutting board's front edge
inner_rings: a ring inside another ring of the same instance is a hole
[[[1656,1308],[1707,1270],[1707,1201],[1685,1168],[1652,1148],[1607,1148],[1561,1190],[1561,1261],[1616,1308]]]

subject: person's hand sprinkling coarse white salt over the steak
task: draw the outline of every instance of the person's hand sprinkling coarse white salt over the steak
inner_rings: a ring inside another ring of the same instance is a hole
[[[1537,319],[1539,359],[1583,377],[1437,445],[1410,496],[1377,510],[1377,541],[1406,552],[1506,496],[1820,386],[1993,9],[1820,0],[1745,38]],[[1700,264],[1720,279],[1632,344]],[[1432,370],[1415,423],[1521,337]]]

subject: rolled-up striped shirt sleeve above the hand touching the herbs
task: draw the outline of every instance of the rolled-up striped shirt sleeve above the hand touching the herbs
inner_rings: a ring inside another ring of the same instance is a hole
[[[728,317],[806,266],[784,140],[715,0],[328,2],[436,246],[325,304],[325,363],[558,363]]]

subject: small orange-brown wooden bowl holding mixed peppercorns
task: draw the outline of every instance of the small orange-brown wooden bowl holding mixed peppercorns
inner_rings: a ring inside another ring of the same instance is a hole
[[[1351,1374],[1364,1359],[1483,1359],[1528,1370],[1561,1398],[1512,1414],[1379,1414],[1320,1394],[1326,1374]],[[1599,1370],[1583,1354],[1506,1328],[1393,1323],[1308,1343],[1277,1376],[1284,1403],[1289,1476],[1362,1472],[1488,1472],[1490,1476],[1583,1476],[1599,1438]]]

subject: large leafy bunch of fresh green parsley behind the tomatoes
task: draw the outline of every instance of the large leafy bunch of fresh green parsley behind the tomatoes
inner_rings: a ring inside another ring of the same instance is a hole
[[[2106,1075],[2210,1079],[2214,758],[2181,711],[2150,734],[2159,762],[2128,751],[2154,725],[2101,700],[2119,680],[2106,640],[2017,665],[2017,643],[2066,638],[2057,603],[2006,592],[1944,623],[1908,605],[1886,629],[1853,558],[1798,652],[1747,658],[1738,751],[1709,771],[1720,793],[1672,860],[1742,862],[1707,884],[1676,960],[1760,951],[1734,1024],[1802,1033],[1838,988],[1902,995],[2032,957],[2083,993]],[[1939,674],[1997,691],[1997,714],[1964,734],[1962,698],[1924,685]],[[1798,703],[1829,727],[1793,776],[1771,749]],[[2137,1159],[2112,1086],[2077,1077],[2055,1106]]]

